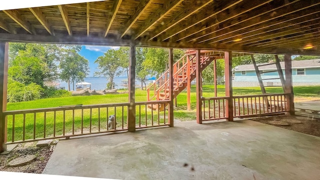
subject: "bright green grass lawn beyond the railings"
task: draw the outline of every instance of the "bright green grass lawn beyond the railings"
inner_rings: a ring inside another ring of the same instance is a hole
[[[297,97],[320,97],[320,86],[296,86],[293,88],[294,94]],[[267,92],[275,93],[282,92],[281,87],[267,87]],[[224,96],[224,86],[218,85],[218,96]],[[212,97],[214,96],[214,88],[213,85],[203,85],[203,93],[204,97]],[[244,95],[244,94],[261,94],[259,87],[234,87],[233,88],[234,95]],[[174,110],[174,118],[180,120],[194,120],[195,119],[195,85],[191,87],[191,109],[190,111],[186,110],[186,90],[183,90],[177,96],[177,107]],[[137,102],[146,101],[146,91],[136,89],[135,100]],[[21,109],[34,109],[34,108],[46,108],[46,107],[58,107],[62,105],[74,105],[74,104],[112,104],[112,103],[121,103],[128,102],[128,94],[120,93],[120,94],[106,94],[106,95],[91,95],[91,96],[70,96],[70,97],[59,97],[59,98],[46,98],[46,99],[38,99],[33,101],[26,102],[15,102],[15,103],[7,103],[7,110],[21,110]],[[66,110],[64,111],[65,121],[63,123],[63,111],[56,111],[55,113],[55,135],[61,135],[63,133],[63,126],[65,127],[65,133],[69,133],[74,129],[74,131],[79,131],[81,126],[83,126],[84,130],[97,130],[98,126],[101,129],[105,129],[107,115],[116,114],[117,128],[125,128],[126,127],[126,117],[127,117],[127,107],[116,107],[114,111],[114,107],[106,107],[103,108],[92,108],[83,110],[83,121],[82,121],[82,112],[80,109],[74,110],[74,118],[73,111]],[[140,108],[140,109],[139,109]],[[153,113],[153,114],[151,114]],[[164,114],[165,113],[165,114]],[[90,117],[91,114],[91,117]],[[167,121],[167,111],[160,111],[159,114],[157,110],[151,111],[149,108],[145,110],[145,105],[136,106],[136,125],[141,123],[145,124],[145,119],[147,124],[157,124],[163,123],[163,121]],[[140,114],[140,118],[139,115]],[[35,121],[35,137],[43,137],[44,135],[44,124],[45,124],[45,136],[51,136],[53,134],[53,124],[54,124],[54,112],[44,113],[39,112],[35,113],[36,121]],[[100,117],[100,121],[99,118]],[[151,120],[153,117],[153,120]],[[45,120],[44,120],[45,119]],[[91,119],[91,120],[90,120]],[[123,119],[123,123],[122,123]],[[140,121],[139,121],[140,120]],[[7,117],[7,136],[8,141],[11,141],[12,137],[12,115]],[[72,126],[72,122],[74,121],[74,126]],[[45,122],[45,123],[44,123]],[[33,138],[33,128],[34,128],[34,113],[26,113],[25,114],[25,139]],[[64,125],[63,125],[64,124]],[[14,139],[19,140],[22,139],[23,132],[23,114],[15,115],[14,117]]]

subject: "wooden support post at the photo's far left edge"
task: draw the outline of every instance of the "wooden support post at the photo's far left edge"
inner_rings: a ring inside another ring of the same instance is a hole
[[[8,77],[8,42],[0,42],[0,152],[6,150],[6,93]]]

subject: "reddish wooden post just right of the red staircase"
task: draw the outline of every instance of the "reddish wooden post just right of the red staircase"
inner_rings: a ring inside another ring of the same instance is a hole
[[[195,79],[196,79],[196,123],[202,123],[202,101],[201,101],[201,72],[200,72],[200,49],[195,51]]]

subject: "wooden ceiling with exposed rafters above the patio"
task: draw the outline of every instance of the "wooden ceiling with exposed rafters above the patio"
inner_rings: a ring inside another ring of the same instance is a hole
[[[0,41],[320,54],[320,0],[81,1],[1,8]]]

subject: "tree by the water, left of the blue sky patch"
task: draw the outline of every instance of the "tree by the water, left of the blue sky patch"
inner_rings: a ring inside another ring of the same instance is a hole
[[[73,90],[74,83],[83,81],[84,77],[89,72],[89,61],[78,54],[75,49],[68,49],[68,53],[60,61],[60,79],[68,83],[70,90],[70,82],[72,82]]]

